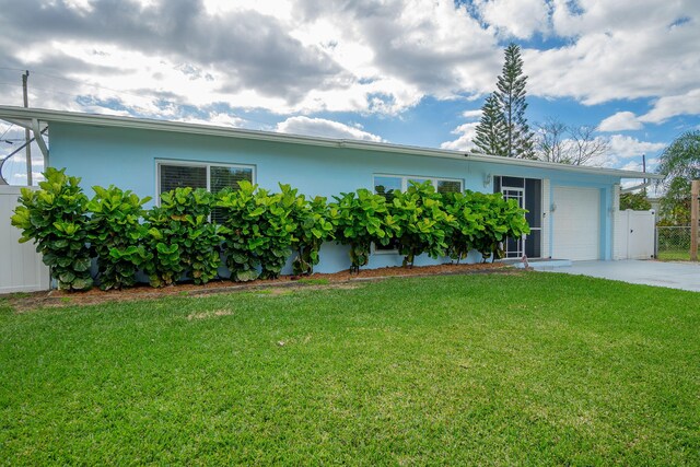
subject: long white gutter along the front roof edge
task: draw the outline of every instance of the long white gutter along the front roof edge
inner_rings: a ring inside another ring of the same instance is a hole
[[[24,108],[14,106],[0,106],[0,119],[13,121],[14,124],[32,128],[32,120],[46,122],[80,124],[96,127],[130,128],[153,131],[172,131],[179,133],[217,136],[225,138],[240,138],[248,140],[260,140],[271,142],[282,142],[292,144],[306,144],[325,148],[349,148],[358,150],[370,150],[387,153],[398,153],[405,155],[423,155],[442,159],[469,160],[487,162],[492,164],[517,165],[540,170],[551,170],[560,172],[584,173],[592,175],[603,175],[620,178],[663,178],[657,174],[649,174],[633,171],[621,171],[617,168],[588,167],[581,165],[567,165],[553,162],[529,161],[525,159],[502,157],[498,155],[475,154],[470,152],[451,151],[444,149],[418,148],[402,144],[389,144],[372,141],[334,139],[322,137],[307,137],[301,135],[278,133],[272,131],[245,130],[241,128],[225,128],[212,125],[186,124],[182,121],[153,120],[145,118],[121,117],[114,115],[82,114],[75,112],[49,110],[39,108]]]

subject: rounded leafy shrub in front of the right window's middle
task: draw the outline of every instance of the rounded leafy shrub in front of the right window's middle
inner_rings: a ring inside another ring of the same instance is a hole
[[[387,203],[386,224],[394,231],[404,266],[413,266],[416,256],[427,253],[432,258],[445,256],[445,236],[454,217],[443,209],[442,196],[431,182],[411,182],[405,192],[394,191]]]

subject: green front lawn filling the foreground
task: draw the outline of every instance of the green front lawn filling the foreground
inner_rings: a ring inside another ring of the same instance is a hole
[[[700,465],[699,299],[552,273],[0,299],[0,464]]]

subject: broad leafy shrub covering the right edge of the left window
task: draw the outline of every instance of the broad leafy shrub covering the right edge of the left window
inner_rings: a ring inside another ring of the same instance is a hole
[[[243,180],[238,189],[219,194],[217,207],[226,226],[224,253],[232,280],[275,279],[292,254],[296,192],[289,185],[280,188],[281,192],[270,195]]]

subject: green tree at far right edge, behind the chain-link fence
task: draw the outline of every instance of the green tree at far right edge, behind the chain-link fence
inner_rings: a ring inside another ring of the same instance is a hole
[[[661,214],[676,225],[690,223],[690,182],[700,178],[700,130],[686,131],[664,150],[657,172],[665,176]]]

